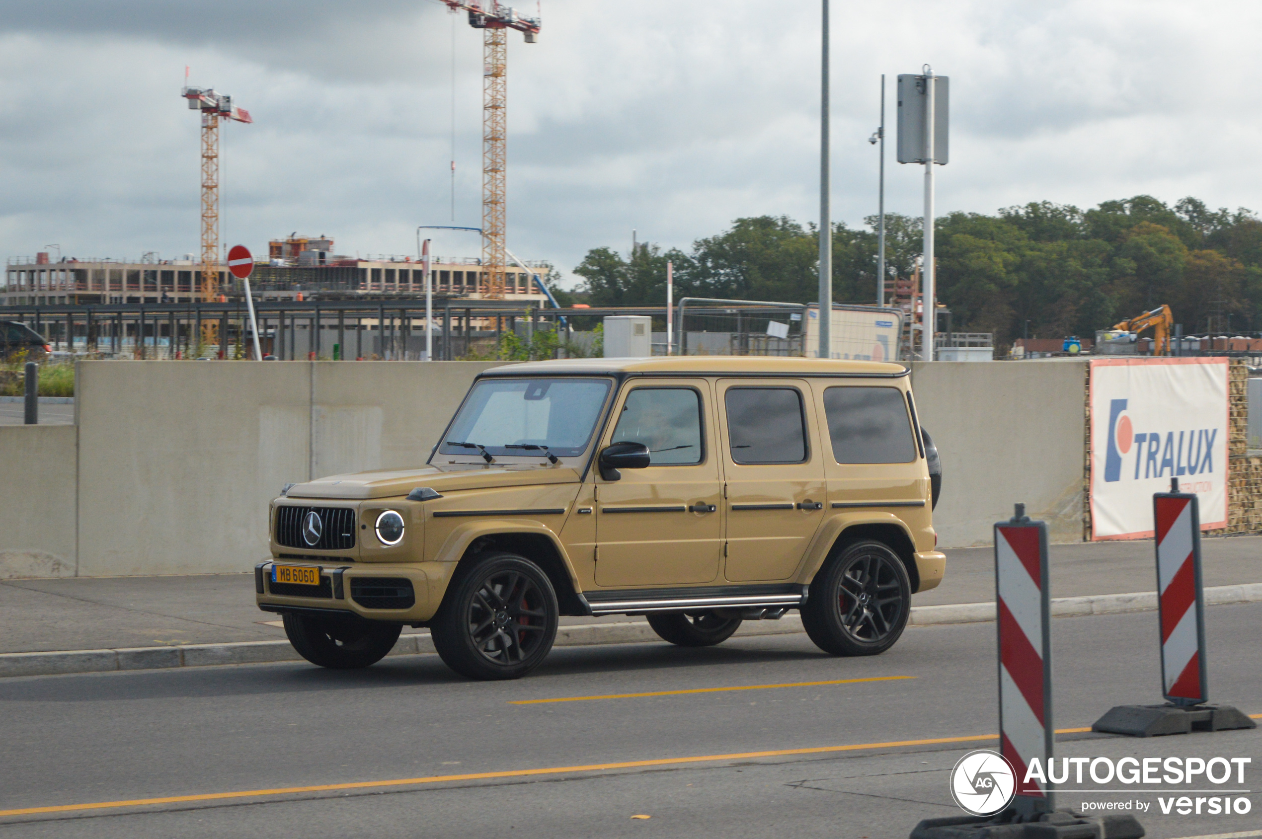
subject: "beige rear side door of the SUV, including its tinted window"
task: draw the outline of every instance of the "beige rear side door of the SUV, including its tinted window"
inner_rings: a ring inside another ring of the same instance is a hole
[[[823,453],[805,381],[719,380],[732,582],[785,580],[823,521]]]

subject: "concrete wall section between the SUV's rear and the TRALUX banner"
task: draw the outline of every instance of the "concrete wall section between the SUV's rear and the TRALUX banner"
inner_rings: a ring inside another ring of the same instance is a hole
[[[1087,362],[915,362],[920,421],[943,462],[939,546],[988,545],[1023,502],[1054,543],[1083,539]]]

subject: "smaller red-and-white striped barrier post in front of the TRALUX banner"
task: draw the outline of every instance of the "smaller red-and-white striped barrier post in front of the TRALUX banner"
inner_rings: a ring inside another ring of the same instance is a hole
[[[1152,496],[1161,618],[1161,693],[1175,705],[1209,699],[1205,672],[1205,597],[1200,578],[1200,511],[1195,493]]]

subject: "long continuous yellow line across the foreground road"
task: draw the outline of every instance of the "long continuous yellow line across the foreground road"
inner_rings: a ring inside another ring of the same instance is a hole
[[[1058,734],[1089,732],[1089,728],[1058,728]],[[732,754],[702,754],[698,757],[664,757],[652,761],[621,761],[617,763],[588,763],[586,766],[554,766],[534,770],[507,770],[502,772],[469,772],[466,775],[432,775],[419,778],[391,781],[351,781],[347,783],[319,783],[313,786],[288,786],[275,790],[239,790],[236,792],[206,792],[202,795],[170,795],[160,799],[133,799],[130,801],[95,801],[91,804],[61,804],[48,807],[21,807],[0,810],[0,816],[25,816],[42,813],[74,813],[81,810],[110,810],[116,807],[144,807],[159,804],[188,804],[191,801],[223,801],[226,799],[252,799],[269,795],[294,795],[299,792],[336,792],[338,790],[369,790],[384,786],[419,786],[452,781],[490,781],[497,778],[526,777],[533,775],[573,775],[604,770],[634,770],[646,766],[680,766],[684,763],[716,763],[719,761],[748,761],[760,757],[791,757],[794,754],[828,754],[834,752],[861,752],[870,748],[897,748],[902,746],[940,746],[943,743],[969,743],[998,739],[998,734],[970,737],[935,737],[930,739],[891,741],[888,743],[856,743],[853,746],[814,746],[809,748],[781,748],[767,752],[736,752]]]

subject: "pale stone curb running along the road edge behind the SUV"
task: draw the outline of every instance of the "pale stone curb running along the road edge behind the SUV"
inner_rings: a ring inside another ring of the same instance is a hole
[[[1215,585],[1205,589],[1205,606],[1262,602],[1262,583]],[[1121,614],[1155,612],[1156,592],[1127,594],[1094,594],[1061,597],[1051,601],[1053,617],[1087,614]],[[910,626],[944,623],[983,623],[994,621],[994,603],[953,603],[950,606],[911,607]],[[786,614],[779,621],[751,621],[737,630],[737,636],[791,635],[803,632],[801,618]],[[601,643],[658,642],[661,638],[644,622],[589,623],[563,626],[557,631],[558,647],[582,647]],[[428,632],[399,636],[389,655],[411,656],[434,652]],[[300,661],[289,641],[240,641],[233,643],[189,643],[179,647],[129,647],[119,650],[69,650],[59,652],[0,654],[0,678],[49,676],[73,672],[110,672],[115,670],[163,670],[170,667],[207,667],[227,664],[268,664]]]

